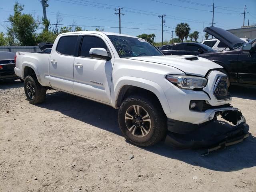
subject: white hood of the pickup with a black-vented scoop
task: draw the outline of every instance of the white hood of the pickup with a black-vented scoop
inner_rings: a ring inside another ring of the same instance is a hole
[[[142,57],[130,57],[126,59],[164,64],[164,65],[177,68],[182,72],[184,72],[185,74],[202,76],[202,77],[204,77],[209,70],[222,68],[222,66],[208,59],[200,58],[193,55],[142,56]]]

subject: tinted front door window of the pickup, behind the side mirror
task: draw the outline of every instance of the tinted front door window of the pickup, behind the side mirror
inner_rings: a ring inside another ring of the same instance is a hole
[[[84,36],[80,48],[81,57],[90,57],[89,51],[91,48],[104,48],[108,51],[108,47],[106,46],[105,42],[96,36]],[[110,56],[110,53],[108,52]]]

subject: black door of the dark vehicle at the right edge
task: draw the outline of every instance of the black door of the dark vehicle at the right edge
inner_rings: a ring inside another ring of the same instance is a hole
[[[256,46],[256,43],[253,45]],[[238,82],[256,84],[256,52],[243,52],[238,55]]]

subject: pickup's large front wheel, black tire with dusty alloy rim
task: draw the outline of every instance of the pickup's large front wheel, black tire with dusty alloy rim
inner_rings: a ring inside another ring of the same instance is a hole
[[[160,104],[146,97],[126,98],[119,108],[118,123],[126,140],[137,146],[151,146],[166,136],[166,115]]]

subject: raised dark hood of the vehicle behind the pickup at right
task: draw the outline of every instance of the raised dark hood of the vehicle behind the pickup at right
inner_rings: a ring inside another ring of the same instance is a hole
[[[222,28],[206,27],[204,28],[204,31],[216,37],[218,40],[226,44],[226,46],[228,46],[230,49],[234,49],[240,44],[245,44],[243,40]]]

